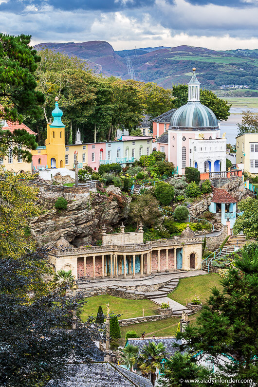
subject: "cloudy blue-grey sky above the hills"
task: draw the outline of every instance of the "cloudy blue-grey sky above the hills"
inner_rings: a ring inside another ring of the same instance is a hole
[[[0,31],[30,34],[33,44],[255,49],[257,24],[258,0],[0,0]]]

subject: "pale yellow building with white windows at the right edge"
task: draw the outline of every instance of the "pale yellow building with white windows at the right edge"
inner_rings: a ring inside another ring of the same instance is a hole
[[[258,133],[245,133],[237,137],[236,163],[245,172],[258,174]]]

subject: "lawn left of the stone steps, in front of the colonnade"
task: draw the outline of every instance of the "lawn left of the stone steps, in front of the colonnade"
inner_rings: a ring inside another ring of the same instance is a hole
[[[84,305],[82,312],[82,320],[86,321],[88,316],[94,316],[98,312],[99,305],[102,306],[103,312],[107,310],[107,303],[110,303],[110,311],[116,314],[121,314],[119,319],[139,317],[143,315],[151,316],[158,314],[158,305],[150,300],[127,300],[124,298],[113,297],[112,295],[96,295],[95,297],[87,298],[87,304]]]

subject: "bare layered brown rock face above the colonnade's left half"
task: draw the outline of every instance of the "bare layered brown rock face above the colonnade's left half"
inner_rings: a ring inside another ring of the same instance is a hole
[[[67,210],[58,211],[54,200],[44,199],[45,208],[50,209],[31,221],[31,231],[39,243],[47,245],[55,245],[62,234],[75,247],[92,244],[101,239],[103,223],[110,232],[128,218],[130,200],[125,195],[93,193],[69,202]]]

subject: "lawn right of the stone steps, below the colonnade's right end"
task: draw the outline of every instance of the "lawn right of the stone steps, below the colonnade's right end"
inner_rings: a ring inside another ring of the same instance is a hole
[[[216,273],[182,278],[179,280],[177,288],[174,292],[169,293],[168,297],[182,305],[186,305],[186,299],[190,302],[195,295],[198,295],[203,304],[206,304],[206,299],[210,295],[211,288],[214,286],[221,287],[220,280],[221,277]]]

